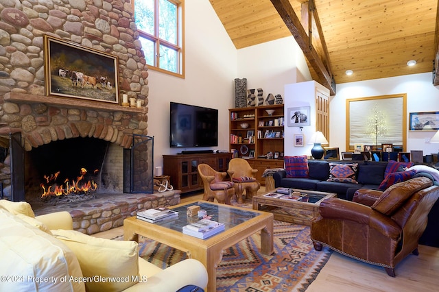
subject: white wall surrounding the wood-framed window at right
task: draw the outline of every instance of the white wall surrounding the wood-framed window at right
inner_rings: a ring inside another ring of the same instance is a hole
[[[331,97],[329,146],[346,148],[346,99],[407,93],[407,149],[438,153],[439,144],[427,142],[435,132],[409,131],[410,112],[439,111],[439,88],[433,86],[431,73],[403,75],[378,80],[337,84],[337,95]]]

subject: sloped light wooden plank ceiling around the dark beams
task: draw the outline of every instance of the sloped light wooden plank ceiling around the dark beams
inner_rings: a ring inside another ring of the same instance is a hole
[[[237,49],[292,36],[274,7],[274,3],[288,0],[210,2]],[[302,19],[302,3],[307,2],[289,0],[298,19]],[[322,60],[329,66],[335,83],[433,71],[438,0],[313,2],[329,53],[329,60]],[[315,23],[312,26],[312,44],[319,51]],[[416,66],[407,66],[408,60],[416,60]],[[313,66],[309,67],[313,79],[322,83]],[[353,75],[346,75],[346,70],[352,70]]]

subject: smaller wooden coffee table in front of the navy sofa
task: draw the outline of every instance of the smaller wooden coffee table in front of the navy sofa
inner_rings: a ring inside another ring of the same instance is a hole
[[[276,193],[277,188],[262,195],[253,197],[253,210],[272,212],[274,219],[302,225],[311,225],[311,219],[318,215],[320,202],[329,197],[337,197],[335,193],[293,189],[305,195],[307,202],[264,197],[268,193]]]

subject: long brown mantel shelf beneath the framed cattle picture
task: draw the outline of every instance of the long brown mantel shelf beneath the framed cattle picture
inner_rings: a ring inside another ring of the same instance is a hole
[[[19,103],[48,104],[53,106],[62,106],[65,108],[84,108],[88,110],[104,110],[107,112],[130,112],[147,114],[147,107],[130,108],[120,106],[119,104],[110,104],[104,101],[88,101],[86,99],[74,99],[69,97],[54,97],[43,95],[29,95],[27,93],[10,93],[6,94],[5,101],[14,101]]]

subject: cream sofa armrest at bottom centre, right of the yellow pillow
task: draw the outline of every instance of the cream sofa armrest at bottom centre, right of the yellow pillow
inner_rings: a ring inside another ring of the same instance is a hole
[[[148,277],[145,282],[134,284],[125,291],[177,291],[187,285],[195,285],[205,289],[207,280],[207,270],[204,265],[198,260],[188,258],[162,271],[158,271],[158,273]]]

